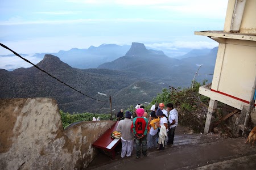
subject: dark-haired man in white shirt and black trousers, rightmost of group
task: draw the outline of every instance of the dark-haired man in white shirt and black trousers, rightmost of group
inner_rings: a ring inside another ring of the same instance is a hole
[[[169,131],[168,131],[167,145],[172,145],[172,144],[174,144],[174,134],[175,134],[175,129],[176,129],[177,123],[178,123],[178,113],[172,103],[168,103],[166,106],[167,106],[167,110],[170,111],[169,118],[168,118]]]

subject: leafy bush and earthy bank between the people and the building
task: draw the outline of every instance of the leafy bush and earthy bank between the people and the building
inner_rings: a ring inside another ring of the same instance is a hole
[[[154,104],[167,103],[174,104],[174,107],[179,113],[179,124],[189,126],[196,132],[201,132],[204,129],[205,118],[207,116],[207,107],[209,104],[209,97],[200,95],[198,93],[199,87],[205,85],[207,80],[203,83],[194,82],[190,88],[164,88],[161,94],[158,94],[151,102]]]

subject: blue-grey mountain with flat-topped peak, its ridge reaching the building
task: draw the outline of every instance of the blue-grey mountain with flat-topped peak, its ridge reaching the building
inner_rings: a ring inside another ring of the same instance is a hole
[[[165,84],[172,87],[188,87],[199,65],[205,74],[213,74],[217,56],[217,48],[207,55],[194,56],[183,59],[167,57],[161,51],[147,50],[144,44],[133,42],[130,50],[123,57],[112,62],[106,62],[98,69],[135,71],[149,82]],[[212,79],[212,75],[199,76],[197,80]]]

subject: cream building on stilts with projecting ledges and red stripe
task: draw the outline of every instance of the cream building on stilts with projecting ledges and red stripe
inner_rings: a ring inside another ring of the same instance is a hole
[[[240,110],[255,105],[256,1],[229,0],[224,31],[195,34],[219,43],[212,83],[199,88],[199,94],[210,97],[204,129],[208,133],[217,101]]]

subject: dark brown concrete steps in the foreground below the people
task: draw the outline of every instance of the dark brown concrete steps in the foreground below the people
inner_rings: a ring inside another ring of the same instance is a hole
[[[246,145],[245,141],[242,137],[224,139],[217,134],[178,134],[175,135],[174,145],[166,146],[162,151],[148,150],[145,158],[136,159],[134,150],[130,158],[121,159],[117,155],[115,160],[98,161],[97,165],[89,165],[86,169],[210,169],[211,166],[221,169],[217,165],[223,162],[228,164],[225,166],[232,167],[230,169],[241,167],[239,162],[250,169],[256,167],[255,161],[248,163],[251,159],[255,160],[256,148]],[[238,163],[234,164],[236,161]]]

